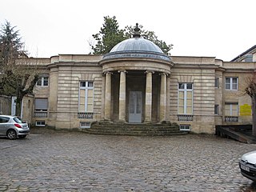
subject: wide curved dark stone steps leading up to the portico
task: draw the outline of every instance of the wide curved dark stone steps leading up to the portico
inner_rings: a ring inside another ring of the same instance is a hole
[[[82,129],[88,134],[112,134],[133,136],[157,136],[188,134],[188,131],[179,130],[176,123],[140,123],[129,124],[120,122],[93,122],[90,128]]]

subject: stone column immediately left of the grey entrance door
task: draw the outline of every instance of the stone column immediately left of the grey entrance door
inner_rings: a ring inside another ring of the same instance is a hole
[[[118,70],[120,73],[119,86],[119,121],[126,121],[126,70]]]

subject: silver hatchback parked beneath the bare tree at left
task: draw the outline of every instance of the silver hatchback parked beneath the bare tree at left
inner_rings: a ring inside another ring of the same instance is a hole
[[[22,118],[0,115],[0,136],[6,136],[10,139],[26,138],[30,134],[30,127]]]

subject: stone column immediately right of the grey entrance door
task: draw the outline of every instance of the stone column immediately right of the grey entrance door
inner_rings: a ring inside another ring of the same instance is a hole
[[[145,122],[152,120],[152,74],[154,71],[146,70]]]

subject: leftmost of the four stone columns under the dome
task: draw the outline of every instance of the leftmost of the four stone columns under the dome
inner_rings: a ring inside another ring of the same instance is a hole
[[[106,84],[105,84],[105,119],[111,118],[111,74],[106,72]]]

